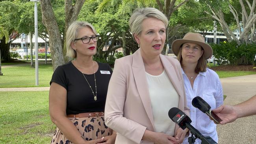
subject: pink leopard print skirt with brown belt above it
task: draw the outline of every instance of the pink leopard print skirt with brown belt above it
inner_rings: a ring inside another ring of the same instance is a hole
[[[91,116],[85,118],[69,118],[76,126],[85,140],[95,140],[98,138],[112,135],[112,130],[105,125],[104,116]],[[56,128],[51,140],[51,144],[73,144],[69,139],[61,133],[59,128]]]

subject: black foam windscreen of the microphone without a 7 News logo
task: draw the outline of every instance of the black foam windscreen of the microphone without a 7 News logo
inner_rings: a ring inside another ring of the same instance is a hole
[[[200,96],[196,96],[192,100],[192,105],[196,108],[198,108],[203,113],[206,113],[206,111],[209,111],[211,109],[211,106],[205,102]]]

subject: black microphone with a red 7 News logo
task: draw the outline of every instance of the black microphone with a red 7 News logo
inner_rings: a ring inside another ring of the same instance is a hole
[[[191,137],[195,135],[196,138],[202,140],[201,144],[217,144],[217,142],[215,142],[211,137],[204,137],[204,135],[195,129],[195,127],[190,124],[192,122],[191,119],[177,107],[171,108],[168,112],[168,116],[171,118],[171,120],[173,120],[173,122],[178,124],[180,128],[188,128],[192,134]]]

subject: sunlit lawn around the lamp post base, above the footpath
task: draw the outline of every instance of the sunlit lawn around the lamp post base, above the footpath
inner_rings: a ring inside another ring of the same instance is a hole
[[[39,86],[49,87],[53,70],[51,64],[41,64],[39,70]],[[12,66],[2,68],[3,76],[0,76],[0,88],[4,87],[36,87],[35,86],[35,68],[30,65]]]

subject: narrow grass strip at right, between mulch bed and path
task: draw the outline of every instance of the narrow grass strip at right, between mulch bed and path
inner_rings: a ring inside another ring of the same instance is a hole
[[[256,72],[251,71],[215,71],[219,78],[229,78],[229,77],[235,77],[235,76],[246,76],[251,74],[256,74]]]

